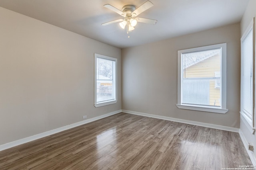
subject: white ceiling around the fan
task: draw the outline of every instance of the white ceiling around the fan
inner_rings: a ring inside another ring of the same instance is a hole
[[[118,23],[122,16],[104,8],[111,4],[138,8],[146,0],[0,0],[0,6],[119,48],[238,23],[249,0],[150,0],[154,6],[138,17],[158,20],[138,23],[130,38]]]

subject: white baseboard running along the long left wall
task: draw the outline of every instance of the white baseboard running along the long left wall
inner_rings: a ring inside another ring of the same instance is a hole
[[[68,129],[71,129],[71,128],[74,128],[74,127],[77,127],[77,126],[80,126],[80,125],[84,125],[86,123],[90,123],[92,121],[96,121],[96,120],[99,120],[99,119],[102,119],[104,117],[108,117],[108,116],[111,116],[111,115],[114,115],[114,114],[117,114],[117,113],[120,113],[120,112],[122,112],[122,110],[117,110],[117,111],[107,113],[107,114],[104,114],[104,115],[101,115],[101,116],[93,117],[91,119],[87,119],[87,120],[80,121],[80,122],[77,122],[77,123],[73,123],[73,124],[70,124],[70,125],[66,125],[66,126],[63,126],[63,127],[57,128],[57,129],[53,129],[53,130],[50,130],[50,131],[39,133],[37,135],[26,137],[24,139],[19,139],[17,141],[6,143],[6,144],[3,144],[3,145],[0,145],[0,151],[6,150],[6,149],[9,149],[9,148],[12,148],[12,147],[16,147],[18,145],[22,145],[24,143],[28,143],[28,142],[31,142],[31,141],[34,141],[36,139],[40,139],[40,138],[43,138],[43,137],[46,137],[46,136],[49,136],[49,135],[53,135],[55,133],[59,133],[61,131],[65,131],[65,130],[68,130]]]

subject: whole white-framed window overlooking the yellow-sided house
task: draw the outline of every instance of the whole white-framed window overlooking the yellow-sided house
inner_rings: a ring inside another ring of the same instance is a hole
[[[226,43],[178,51],[180,109],[226,113]]]

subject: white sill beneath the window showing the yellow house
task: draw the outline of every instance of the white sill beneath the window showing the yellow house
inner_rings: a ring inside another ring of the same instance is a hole
[[[200,107],[200,106],[190,106],[190,105],[181,105],[176,104],[179,109],[188,109],[188,110],[198,110],[198,111],[206,111],[213,113],[227,113],[228,109],[219,109],[219,108],[211,108],[211,107]]]

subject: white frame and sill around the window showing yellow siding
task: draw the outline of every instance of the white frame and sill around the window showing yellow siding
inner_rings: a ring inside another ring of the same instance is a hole
[[[182,104],[182,53],[191,53],[196,51],[205,51],[210,49],[221,48],[221,107],[211,107],[211,106],[200,106],[200,105],[189,105]],[[176,106],[180,109],[188,109],[188,110],[197,110],[197,111],[207,111],[214,113],[226,113],[228,109],[226,109],[226,43],[216,44],[216,45],[208,45],[204,47],[196,47],[192,49],[184,49],[178,51],[178,103]]]

